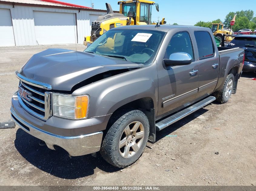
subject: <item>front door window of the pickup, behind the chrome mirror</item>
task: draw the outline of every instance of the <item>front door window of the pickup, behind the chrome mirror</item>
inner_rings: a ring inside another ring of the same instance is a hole
[[[191,40],[188,32],[176,33],[170,40],[165,51],[164,59],[169,59],[172,53],[183,52],[188,53],[192,60],[194,59]]]

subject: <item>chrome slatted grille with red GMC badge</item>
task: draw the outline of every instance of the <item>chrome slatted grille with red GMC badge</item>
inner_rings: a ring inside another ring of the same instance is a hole
[[[49,84],[34,81],[15,72],[20,79],[18,101],[30,114],[47,120],[52,116],[52,92]],[[42,84],[42,85],[41,85]]]

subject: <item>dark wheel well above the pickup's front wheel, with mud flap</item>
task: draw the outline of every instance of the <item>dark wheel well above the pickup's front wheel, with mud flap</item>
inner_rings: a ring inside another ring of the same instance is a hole
[[[115,110],[108,120],[108,125],[103,132],[103,136],[107,133],[108,129],[115,123],[115,121],[129,110],[141,110],[143,113],[145,113],[150,126],[148,140],[152,143],[155,142],[155,108],[154,101],[151,97],[143,97],[138,100],[131,101]]]

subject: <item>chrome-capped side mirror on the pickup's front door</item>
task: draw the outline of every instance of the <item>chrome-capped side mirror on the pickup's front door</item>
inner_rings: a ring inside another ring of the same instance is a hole
[[[181,66],[189,65],[192,62],[192,58],[188,53],[172,53],[169,59],[164,59],[166,66]]]

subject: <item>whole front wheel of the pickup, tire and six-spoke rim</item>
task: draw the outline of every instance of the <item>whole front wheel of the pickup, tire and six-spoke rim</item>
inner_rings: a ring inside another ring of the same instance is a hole
[[[128,167],[143,153],[148,135],[147,116],[140,110],[128,111],[109,128],[100,153],[113,166]]]

